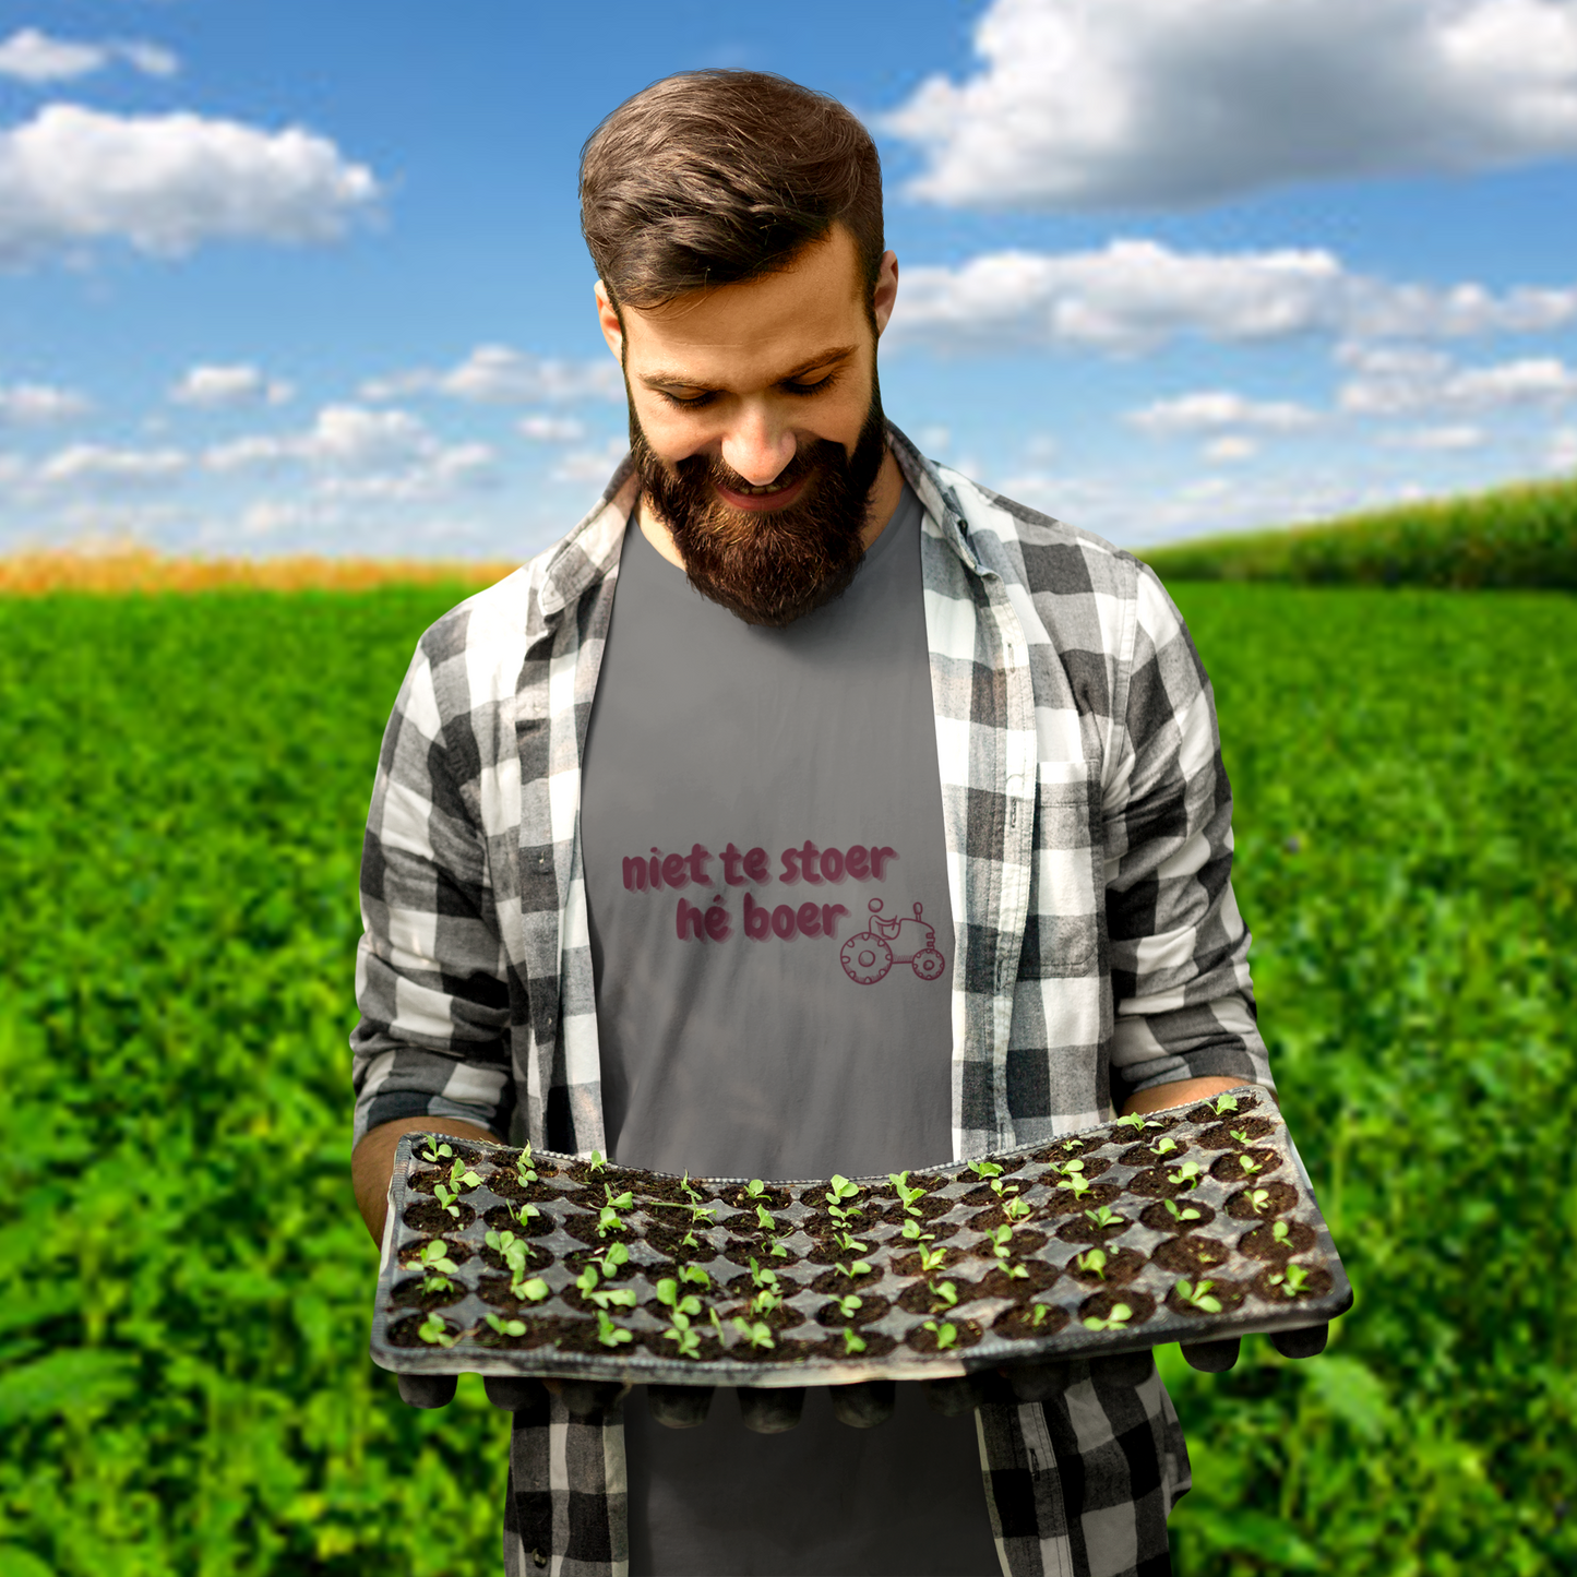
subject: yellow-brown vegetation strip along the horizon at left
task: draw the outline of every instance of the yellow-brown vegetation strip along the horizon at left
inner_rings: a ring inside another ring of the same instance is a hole
[[[50,591],[366,591],[383,585],[459,583],[476,590],[519,565],[432,558],[328,558],[293,554],[274,558],[203,558],[156,554],[38,550],[0,557],[0,595]]]

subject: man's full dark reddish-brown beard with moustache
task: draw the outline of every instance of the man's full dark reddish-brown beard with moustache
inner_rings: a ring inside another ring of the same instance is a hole
[[[872,369],[874,372],[874,369]],[[831,438],[803,445],[773,478],[801,495],[782,509],[733,509],[716,487],[751,484],[721,456],[692,454],[667,465],[651,453],[629,405],[629,448],[648,501],[673,538],[689,583],[746,624],[781,628],[847,590],[866,557],[859,533],[886,457],[886,418],[872,375],[871,407],[855,453]]]

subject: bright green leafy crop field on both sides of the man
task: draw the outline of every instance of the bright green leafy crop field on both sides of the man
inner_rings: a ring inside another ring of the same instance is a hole
[[[1162,1351],[1178,1569],[1571,1571],[1577,604],[1175,593],[1358,1296]],[[0,1577],[498,1571],[505,1416],[371,1366],[347,1181],[377,743],[457,595],[0,601]]]

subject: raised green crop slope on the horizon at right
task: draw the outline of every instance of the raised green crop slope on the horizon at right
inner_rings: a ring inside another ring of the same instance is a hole
[[[1515,483],[1139,557],[1164,580],[1577,591],[1577,481]]]

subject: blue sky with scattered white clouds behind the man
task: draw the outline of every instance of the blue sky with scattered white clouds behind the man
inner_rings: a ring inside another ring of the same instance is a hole
[[[1123,546],[1577,467],[1577,3],[0,3],[0,550],[524,560],[624,432],[585,136],[781,71],[888,413]]]

